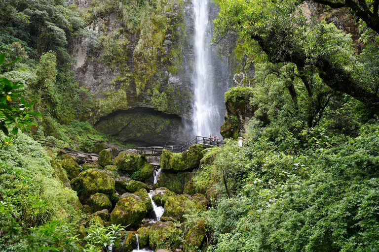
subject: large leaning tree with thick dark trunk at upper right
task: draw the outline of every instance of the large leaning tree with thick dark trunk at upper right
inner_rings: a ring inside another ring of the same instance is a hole
[[[299,2],[222,1],[213,41],[230,32],[237,32],[251,51],[260,48],[269,62],[314,71],[332,90],[351,95],[379,115],[379,84],[367,82],[370,73],[351,38],[333,24],[307,21]]]

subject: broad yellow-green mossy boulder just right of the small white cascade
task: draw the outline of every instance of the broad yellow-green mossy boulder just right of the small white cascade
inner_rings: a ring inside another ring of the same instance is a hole
[[[204,207],[197,198],[192,198],[189,195],[169,196],[164,204],[164,217],[172,217],[178,221],[184,222],[183,217],[186,214],[192,214],[197,211],[205,211]]]

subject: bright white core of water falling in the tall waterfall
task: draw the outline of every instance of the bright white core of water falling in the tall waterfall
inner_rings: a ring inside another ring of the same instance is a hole
[[[220,113],[213,101],[213,80],[209,64],[208,0],[193,0],[195,12],[194,131],[199,136],[220,132]]]

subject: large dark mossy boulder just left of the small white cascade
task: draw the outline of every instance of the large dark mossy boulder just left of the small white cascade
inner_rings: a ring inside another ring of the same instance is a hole
[[[152,210],[152,201],[146,189],[135,193],[126,192],[120,196],[111,213],[111,224],[132,224],[138,226],[142,219]]]

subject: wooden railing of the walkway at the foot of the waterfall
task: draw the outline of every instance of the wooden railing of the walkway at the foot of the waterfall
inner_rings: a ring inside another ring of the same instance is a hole
[[[156,156],[158,154],[161,154],[163,152],[163,149],[166,149],[167,151],[173,152],[173,153],[181,153],[186,150],[192,145],[195,144],[202,144],[207,146],[221,146],[225,144],[224,140],[220,139],[213,139],[209,137],[204,136],[196,136],[193,140],[189,141],[185,145],[160,145],[160,146],[147,146],[147,147],[137,147],[133,148],[138,151],[139,154],[145,155],[145,156]]]

